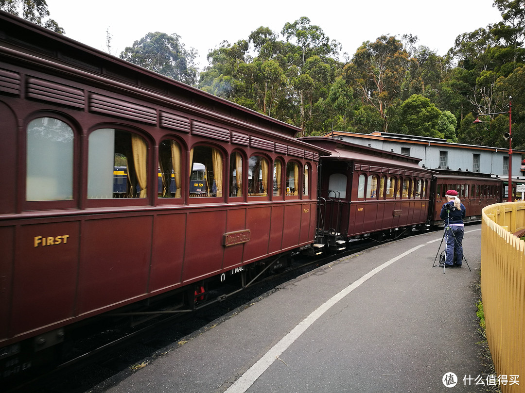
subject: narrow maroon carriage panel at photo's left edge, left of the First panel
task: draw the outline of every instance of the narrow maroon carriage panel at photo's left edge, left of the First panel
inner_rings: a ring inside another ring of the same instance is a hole
[[[0,342],[7,339],[9,333],[14,244],[14,227],[0,227]]]

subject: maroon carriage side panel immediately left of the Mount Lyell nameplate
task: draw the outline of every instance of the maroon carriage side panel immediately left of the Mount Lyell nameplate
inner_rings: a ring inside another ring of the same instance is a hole
[[[191,212],[186,221],[182,282],[212,276],[223,265],[226,210]]]

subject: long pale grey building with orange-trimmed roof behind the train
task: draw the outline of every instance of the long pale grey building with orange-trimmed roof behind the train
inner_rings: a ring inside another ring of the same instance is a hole
[[[440,138],[383,132],[358,134],[332,131],[324,136],[421,158],[420,165],[427,169],[490,173],[501,178],[509,176],[509,149],[456,144]],[[512,178],[514,179],[525,179],[525,166],[522,166],[524,154],[523,150],[512,149]]]

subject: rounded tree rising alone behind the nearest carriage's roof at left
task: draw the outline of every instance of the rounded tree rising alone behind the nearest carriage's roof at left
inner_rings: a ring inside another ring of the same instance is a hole
[[[181,36],[149,32],[120,53],[120,58],[186,84],[195,84],[197,52],[187,50]]]

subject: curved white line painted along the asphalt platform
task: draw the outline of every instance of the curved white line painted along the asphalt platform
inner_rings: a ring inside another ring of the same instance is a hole
[[[347,294],[352,292],[355,288],[358,288],[363,282],[379,273],[384,268],[392,265],[396,260],[401,259],[408,254],[413,253],[418,248],[424,247],[426,244],[420,244],[414,248],[411,248],[401,255],[386,261],[383,265],[376,267],[369,271],[367,274],[352,282],[348,287],[344,288],[339,293],[335,294],[332,298],[324,302],[317,310],[313,311],[310,315],[304,318],[299,324],[293,328],[290,333],[284,336],[274,347],[271,348],[266,354],[264,354],[253,366],[251,366],[246,373],[240,376],[235,383],[230,386],[225,393],[244,393],[253,383],[259,378],[262,373],[266,371],[275,359],[286,351],[286,349],[298,339],[298,337],[306,331],[311,324],[319,319],[319,317],[327,312],[332,305],[343,299]]]

